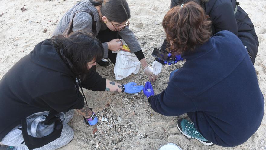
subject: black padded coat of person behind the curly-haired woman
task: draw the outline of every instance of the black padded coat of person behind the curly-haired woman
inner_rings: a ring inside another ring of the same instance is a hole
[[[185,4],[191,0],[171,0],[171,7]],[[206,15],[210,16],[212,21],[212,34],[216,34],[222,30],[228,30],[240,38],[241,42],[247,49],[248,55],[252,63],[255,63],[255,58],[258,53],[258,36],[254,30],[254,25],[251,22],[248,14],[239,6],[235,0],[196,0],[200,4]],[[235,7],[237,12],[234,14]],[[165,50],[167,41],[164,40],[161,50]],[[159,61],[164,65],[163,61]]]

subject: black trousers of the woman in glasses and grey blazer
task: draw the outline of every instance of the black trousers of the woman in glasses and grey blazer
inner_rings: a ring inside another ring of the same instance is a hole
[[[118,35],[117,31],[112,31],[109,28],[106,30],[102,30],[98,33],[97,38],[102,42],[109,42],[113,39],[119,38],[121,39],[121,36]],[[116,53],[112,53],[111,50],[108,50],[108,58],[111,60],[113,64],[115,64],[116,61]]]

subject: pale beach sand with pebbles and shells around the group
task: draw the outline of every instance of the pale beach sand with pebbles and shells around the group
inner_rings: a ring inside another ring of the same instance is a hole
[[[0,0],[0,78],[34,46],[50,38],[57,23],[78,0]],[[127,0],[131,9],[130,29],[135,33],[149,65],[154,58],[153,48],[160,48],[165,38],[162,19],[169,10],[170,0]],[[255,25],[260,46],[255,61],[258,82],[266,97],[266,0],[240,0],[240,6],[248,13]],[[164,65],[161,74],[153,83],[155,94],[167,87],[170,72],[182,67],[183,62]],[[96,66],[100,75],[115,81],[114,65]],[[137,75],[115,82],[147,81],[140,70]],[[36,83],[38,84],[38,83]],[[83,117],[75,112],[69,125],[75,135],[69,145],[60,150],[158,150],[169,142],[183,150],[266,150],[266,117],[258,131],[242,145],[225,148],[207,147],[197,140],[188,139],[177,129],[177,120],[186,114],[167,117],[154,112],[147,98],[117,92],[92,92],[85,90],[88,104],[97,112],[99,122],[87,126]],[[104,118],[104,119],[102,119]],[[103,121],[102,121],[103,120]],[[96,131],[97,128],[97,131]],[[93,131],[94,132],[93,134]],[[239,132],[245,132],[239,129]]]

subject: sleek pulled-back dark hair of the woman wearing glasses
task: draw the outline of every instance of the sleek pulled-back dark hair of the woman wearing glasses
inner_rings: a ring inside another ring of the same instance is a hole
[[[102,16],[105,16],[109,21],[122,23],[131,17],[126,0],[90,0],[90,2],[94,6],[102,5]]]

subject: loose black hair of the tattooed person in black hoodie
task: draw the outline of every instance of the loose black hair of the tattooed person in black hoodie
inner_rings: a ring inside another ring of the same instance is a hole
[[[98,62],[103,57],[101,42],[89,32],[76,31],[69,36],[56,35],[51,43],[70,70],[81,79],[89,73],[87,63],[93,60]]]

